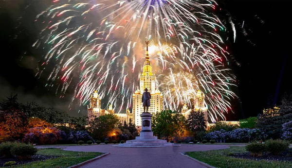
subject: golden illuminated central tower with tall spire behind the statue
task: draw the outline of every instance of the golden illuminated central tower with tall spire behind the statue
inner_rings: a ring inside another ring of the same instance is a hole
[[[148,54],[148,44],[149,41],[146,41],[146,61],[144,62],[143,72],[140,74],[140,88],[137,86],[135,92],[133,93],[133,109],[132,113],[134,114],[135,125],[137,129],[141,129],[141,117],[140,115],[144,112],[143,111],[143,104],[142,104],[142,94],[145,88],[148,89],[148,92],[151,94],[150,99],[150,107],[148,112],[154,114],[156,112],[162,111],[163,106],[163,95],[159,91],[156,86],[156,76],[152,72],[152,66],[149,61],[149,54]]]

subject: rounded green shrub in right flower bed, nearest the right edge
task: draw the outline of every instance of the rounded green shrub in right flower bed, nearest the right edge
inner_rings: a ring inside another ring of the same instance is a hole
[[[267,140],[266,142],[267,145],[267,151],[273,153],[273,154],[279,154],[282,151],[285,151],[286,149],[289,148],[289,142],[286,140]]]

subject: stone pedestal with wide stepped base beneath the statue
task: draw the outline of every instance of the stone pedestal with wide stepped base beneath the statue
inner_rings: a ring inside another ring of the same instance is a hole
[[[125,144],[113,145],[115,147],[172,147],[181,146],[169,143],[166,140],[157,139],[157,136],[153,136],[151,130],[151,117],[150,113],[142,113],[142,130],[140,136],[136,136],[135,140],[128,140]]]

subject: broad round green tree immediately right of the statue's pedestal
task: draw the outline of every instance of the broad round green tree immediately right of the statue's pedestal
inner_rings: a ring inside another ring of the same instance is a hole
[[[174,136],[185,136],[187,134],[186,120],[181,113],[171,110],[157,112],[152,117],[152,131],[158,138],[165,137],[166,140]]]

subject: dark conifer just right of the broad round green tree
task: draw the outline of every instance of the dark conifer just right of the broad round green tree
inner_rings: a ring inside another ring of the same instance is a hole
[[[187,118],[188,126],[193,132],[206,131],[206,122],[204,112],[201,110],[195,111],[193,109]]]

